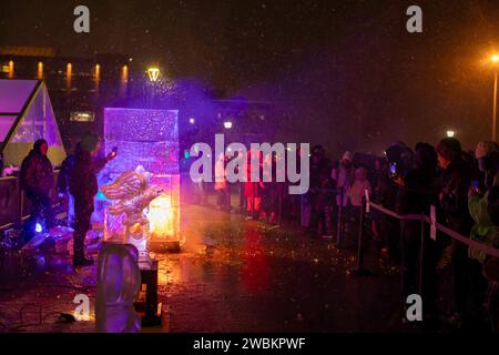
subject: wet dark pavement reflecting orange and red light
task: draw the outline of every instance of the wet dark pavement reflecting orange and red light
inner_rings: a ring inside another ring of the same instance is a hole
[[[384,266],[373,250],[365,264],[375,276],[357,278],[346,273],[354,251],[297,226],[271,230],[210,206],[184,206],[182,215],[182,253],[156,255],[171,332],[411,331],[401,323],[398,268]],[[72,314],[78,294],[94,304],[95,268],[73,271],[69,256],[43,256],[2,260],[0,332],[93,332],[93,313],[91,322],[57,321]]]

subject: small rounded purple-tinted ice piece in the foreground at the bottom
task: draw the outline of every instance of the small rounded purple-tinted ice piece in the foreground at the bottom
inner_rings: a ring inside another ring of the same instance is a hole
[[[98,333],[139,333],[134,301],[141,288],[139,251],[133,245],[105,244],[99,254],[95,329]]]

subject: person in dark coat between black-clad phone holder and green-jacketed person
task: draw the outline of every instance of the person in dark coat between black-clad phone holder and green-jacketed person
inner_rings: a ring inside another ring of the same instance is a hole
[[[462,160],[461,144],[448,138],[437,145],[439,176],[439,204],[446,224],[455,232],[469,236],[473,221],[468,210],[468,192],[471,186],[471,168]],[[468,304],[469,258],[468,247],[451,240],[448,253],[454,268],[454,297],[456,312],[451,321],[460,325]]]

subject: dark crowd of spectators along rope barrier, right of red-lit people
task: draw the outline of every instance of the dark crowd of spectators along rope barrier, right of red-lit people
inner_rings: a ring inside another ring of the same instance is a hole
[[[480,142],[475,152],[465,152],[452,138],[436,146],[421,142],[415,149],[397,142],[386,150],[385,156],[346,152],[337,162],[316,146],[310,161],[310,190],[302,199],[301,209],[302,225],[312,236],[332,237],[342,233],[346,247],[357,247],[358,229],[364,229],[364,235],[379,245],[380,257],[400,266],[404,304],[409,295],[418,293],[421,283],[427,321],[440,318],[438,270],[449,265],[454,276],[454,311],[447,321],[462,326],[488,320],[497,331],[498,258],[445,233],[430,239],[430,229],[421,231],[420,221],[398,220],[375,209],[360,226],[366,191],[371,202],[399,216],[429,215],[434,205],[438,223],[497,248],[498,144]]]

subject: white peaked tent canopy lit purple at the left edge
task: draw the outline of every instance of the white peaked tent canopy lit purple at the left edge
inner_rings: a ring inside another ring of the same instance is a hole
[[[65,158],[64,145],[43,81],[0,80],[0,151],[7,165],[20,166],[33,143],[49,143],[54,166]]]

